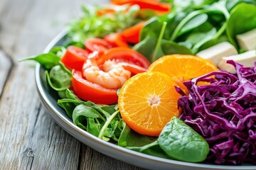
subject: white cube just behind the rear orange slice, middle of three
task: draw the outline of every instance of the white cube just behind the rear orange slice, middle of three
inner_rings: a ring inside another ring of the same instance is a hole
[[[196,55],[206,60],[210,60],[214,64],[218,64],[222,57],[237,55],[238,51],[230,42],[220,42],[218,45],[209,47],[206,50],[198,52]]]

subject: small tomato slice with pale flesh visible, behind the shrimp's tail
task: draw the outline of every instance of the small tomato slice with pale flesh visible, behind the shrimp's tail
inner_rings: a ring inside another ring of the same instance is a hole
[[[90,38],[85,40],[85,48],[89,52],[98,51],[100,54],[103,54],[111,47],[112,45],[110,45],[110,42],[101,38]]]

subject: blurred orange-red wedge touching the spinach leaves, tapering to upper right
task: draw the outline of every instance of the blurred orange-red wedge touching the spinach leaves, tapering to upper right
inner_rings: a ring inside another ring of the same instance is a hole
[[[127,42],[132,42],[134,44],[139,42],[139,34],[145,24],[145,21],[137,23],[136,25],[123,30],[122,36]]]

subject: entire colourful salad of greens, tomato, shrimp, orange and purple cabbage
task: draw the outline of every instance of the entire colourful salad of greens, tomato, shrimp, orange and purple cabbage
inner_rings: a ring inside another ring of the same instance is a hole
[[[82,6],[63,46],[23,59],[73,123],[155,157],[256,164],[256,1],[111,3]]]

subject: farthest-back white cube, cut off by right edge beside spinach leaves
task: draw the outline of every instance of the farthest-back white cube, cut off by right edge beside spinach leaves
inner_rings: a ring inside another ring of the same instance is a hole
[[[238,45],[244,50],[255,50],[256,49],[256,28],[246,33],[236,35]]]

